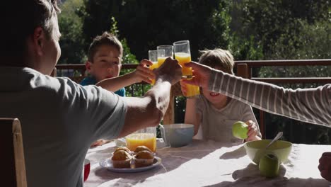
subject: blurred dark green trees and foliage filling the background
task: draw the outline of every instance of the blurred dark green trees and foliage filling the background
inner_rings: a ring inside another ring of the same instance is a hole
[[[331,6],[328,0],[66,0],[61,4],[59,64],[86,62],[95,35],[108,30],[124,46],[123,63],[137,64],[157,45],[190,40],[192,60],[199,50],[221,47],[236,60],[331,58]],[[253,77],[330,77],[331,67],[262,67]],[[123,70],[121,74],[128,70]],[[286,84],[286,88],[315,84]],[[139,96],[149,86],[135,86]],[[258,115],[257,110],[255,110]],[[183,122],[185,98],[175,100],[175,121]],[[330,144],[331,130],[267,114],[266,137],[284,131],[296,143]]]

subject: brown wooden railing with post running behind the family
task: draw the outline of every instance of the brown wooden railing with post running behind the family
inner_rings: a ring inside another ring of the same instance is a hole
[[[331,66],[331,59],[328,60],[256,60],[256,61],[236,61],[236,74],[240,77],[252,79],[256,81],[265,81],[272,84],[329,84],[330,77],[274,77],[274,78],[260,78],[252,77],[252,69],[259,67],[289,67],[289,66]],[[122,64],[122,69],[136,69],[137,64]],[[65,77],[81,77],[86,76],[86,69],[84,64],[58,64],[57,76]],[[140,83],[144,85],[144,83]],[[180,96],[180,87],[174,86],[170,94],[171,98]],[[132,93],[133,94],[133,93]],[[133,96],[133,95],[132,95]],[[174,123],[174,102],[170,103],[167,114],[163,118],[163,122]],[[265,137],[265,113],[260,111],[260,130]]]

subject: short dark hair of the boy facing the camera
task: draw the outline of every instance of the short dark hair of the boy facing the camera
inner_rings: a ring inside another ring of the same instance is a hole
[[[120,52],[120,57],[123,55],[123,47],[120,40],[116,38],[115,35],[112,35],[108,32],[104,32],[102,35],[98,35],[93,39],[90,47],[88,47],[88,61],[93,63],[93,57],[95,52],[97,52],[98,48],[101,45],[110,45],[116,47],[116,49]]]

